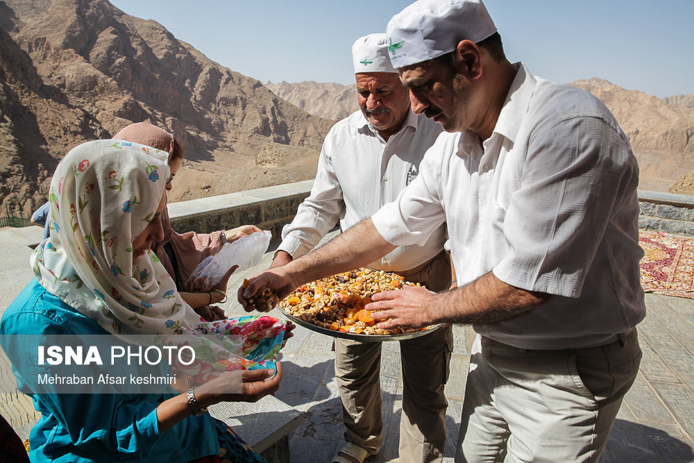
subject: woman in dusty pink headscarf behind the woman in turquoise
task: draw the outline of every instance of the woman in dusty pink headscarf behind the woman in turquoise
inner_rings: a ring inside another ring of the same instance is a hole
[[[114,135],[113,139],[126,140],[167,151],[169,153],[169,168],[171,169],[171,175],[167,180],[167,191],[171,191],[171,180],[174,179],[181,162],[183,162],[183,149],[174,135],[147,122],[136,122],[122,128]],[[242,225],[230,230],[219,230],[212,233],[190,231],[181,234],[171,228],[167,208],[164,208],[164,212],[162,212],[162,227],[164,228],[164,238],[153,244],[152,250],[162,262],[164,269],[167,269],[171,278],[174,279],[178,292],[205,320],[226,319],[223,310],[217,305],[212,305],[220,303],[226,298],[223,291],[212,289],[210,292],[188,292],[185,283],[201,260],[219,252],[225,243],[262,230],[253,225]]]

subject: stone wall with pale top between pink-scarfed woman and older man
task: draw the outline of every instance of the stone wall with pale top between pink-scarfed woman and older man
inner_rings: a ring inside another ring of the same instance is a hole
[[[171,226],[180,233],[210,233],[251,224],[270,230],[279,239],[282,227],[294,219],[296,208],[311,192],[313,180],[221,194],[169,204]]]

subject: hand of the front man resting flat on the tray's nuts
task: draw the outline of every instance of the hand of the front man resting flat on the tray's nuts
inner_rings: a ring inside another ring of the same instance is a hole
[[[436,322],[432,313],[437,303],[435,294],[423,287],[407,286],[397,291],[376,293],[371,296],[371,301],[364,307],[374,311],[371,317],[386,320],[378,323],[376,328],[423,328]]]

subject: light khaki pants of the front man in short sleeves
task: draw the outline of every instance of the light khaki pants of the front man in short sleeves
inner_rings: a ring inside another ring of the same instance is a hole
[[[477,335],[455,461],[598,462],[640,362],[635,328],[604,346],[561,351]]]

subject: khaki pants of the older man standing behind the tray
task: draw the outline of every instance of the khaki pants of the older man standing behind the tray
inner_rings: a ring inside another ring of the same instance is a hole
[[[423,268],[398,272],[407,281],[432,291],[450,286],[450,260],[441,253]],[[403,371],[403,416],[400,419],[400,462],[440,462],[446,444],[443,387],[448,380],[452,329],[400,342]],[[335,339],[335,376],[343,405],[345,439],[371,455],[382,445],[380,342]]]

